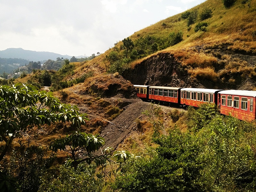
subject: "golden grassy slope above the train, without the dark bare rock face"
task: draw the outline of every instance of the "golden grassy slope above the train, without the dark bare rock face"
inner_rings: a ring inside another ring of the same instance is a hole
[[[237,0],[229,8],[221,0],[208,0],[135,32],[129,36],[134,44],[130,50],[120,41],[78,68],[75,75],[83,75],[92,65],[105,68],[103,73],[122,74],[148,58],[167,53],[180,63],[189,78],[206,78],[223,84],[222,88],[254,90],[255,16],[255,0]],[[252,83],[243,86],[248,79]],[[238,82],[243,83],[237,87]]]

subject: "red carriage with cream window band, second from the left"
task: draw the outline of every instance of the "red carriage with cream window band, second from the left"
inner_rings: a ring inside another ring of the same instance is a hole
[[[180,87],[150,86],[148,99],[180,104],[180,89]]]

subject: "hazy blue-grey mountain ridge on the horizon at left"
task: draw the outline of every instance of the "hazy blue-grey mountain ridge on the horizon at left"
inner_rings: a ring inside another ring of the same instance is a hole
[[[53,52],[37,52],[24,50],[22,48],[8,48],[3,51],[0,51],[0,58],[18,58],[25,59],[29,61],[43,61],[43,60],[56,60],[56,58],[70,59],[72,56],[61,55]],[[76,58],[81,58],[84,56],[75,56]]]

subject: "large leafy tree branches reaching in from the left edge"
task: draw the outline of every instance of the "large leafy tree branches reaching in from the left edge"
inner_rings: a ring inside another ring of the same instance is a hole
[[[87,115],[79,113],[76,106],[61,103],[51,92],[39,91],[33,85],[21,83],[0,86],[0,111],[0,141],[5,142],[0,161],[13,139],[34,126],[61,121],[80,127],[88,120]]]

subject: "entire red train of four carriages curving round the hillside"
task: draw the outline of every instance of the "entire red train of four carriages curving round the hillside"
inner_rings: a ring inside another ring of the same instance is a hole
[[[162,101],[176,105],[194,106],[214,103],[220,113],[241,120],[255,120],[256,91],[198,89],[134,85],[137,96],[148,101]]]

